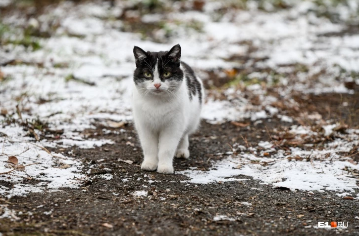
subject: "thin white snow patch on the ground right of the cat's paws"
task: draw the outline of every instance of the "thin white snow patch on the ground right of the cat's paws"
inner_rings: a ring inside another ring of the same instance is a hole
[[[336,125],[332,125],[330,130]],[[304,134],[304,127],[293,126],[294,133]],[[298,130],[302,130],[298,132]],[[350,131],[349,131],[350,132]],[[304,150],[291,147],[288,155],[283,150],[271,149],[271,142],[259,142],[255,150],[260,150],[258,155],[244,153],[233,155],[213,163],[208,171],[195,169],[180,171],[190,178],[189,182],[208,184],[218,181],[246,181],[246,179],[230,178],[237,175],[251,176],[262,184],[270,184],[273,187],[286,187],[292,191],[337,191],[354,193],[357,179],[353,178],[350,170],[359,171],[359,164],[349,162],[342,153],[349,155],[354,147],[359,144],[357,131],[337,138],[324,145],[325,149]],[[319,134],[317,134],[319,135]],[[326,134],[324,134],[326,135]],[[263,157],[261,154],[270,149],[272,157]],[[302,160],[294,160],[289,157],[301,157]],[[307,161],[307,158],[310,161]],[[268,163],[268,164],[264,164]],[[339,195],[341,196],[341,195]]]

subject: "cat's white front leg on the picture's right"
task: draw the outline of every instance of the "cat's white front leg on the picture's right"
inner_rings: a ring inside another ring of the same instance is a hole
[[[176,127],[166,128],[159,133],[158,173],[173,174],[173,156],[181,136],[181,129]]]

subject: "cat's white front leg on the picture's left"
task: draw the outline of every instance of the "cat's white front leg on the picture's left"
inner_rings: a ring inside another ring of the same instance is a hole
[[[144,161],[141,169],[153,171],[158,164],[158,135],[145,127],[138,128],[141,146],[144,153]]]

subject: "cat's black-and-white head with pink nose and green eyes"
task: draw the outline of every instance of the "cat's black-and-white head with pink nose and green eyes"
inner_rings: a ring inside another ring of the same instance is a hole
[[[145,52],[135,46],[133,54],[136,60],[133,79],[140,93],[144,96],[174,97],[183,80],[181,46],[174,45],[164,52]]]

